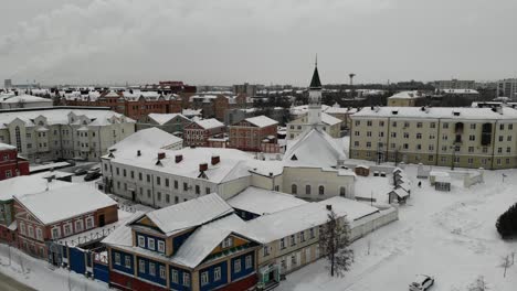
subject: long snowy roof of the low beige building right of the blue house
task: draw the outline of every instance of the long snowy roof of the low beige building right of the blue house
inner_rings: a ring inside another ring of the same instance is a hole
[[[273,240],[325,224],[328,220],[327,205],[331,205],[338,217],[347,216],[352,224],[365,216],[379,212],[367,204],[333,197],[321,202],[310,202],[282,212],[260,216],[246,223],[245,235],[261,241]]]

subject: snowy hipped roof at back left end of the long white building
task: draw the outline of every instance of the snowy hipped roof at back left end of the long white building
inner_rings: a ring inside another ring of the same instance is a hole
[[[130,134],[109,147],[109,150],[116,150],[116,153],[128,151],[130,154],[136,154],[138,150],[141,152],[148,149],[167,149],[178,144],[179,142],[182,142],[182,139],[159,128],[151,127]]]

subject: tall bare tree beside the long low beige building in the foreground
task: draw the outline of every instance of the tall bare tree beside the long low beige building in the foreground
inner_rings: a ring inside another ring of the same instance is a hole
[[[345,276],[354,261],[354,250],[349,249],[350,226],[346,218],[339,219],[331,206],[328,220],[319,229],[319,248],[327,258],[330,269],[330,276]]]

